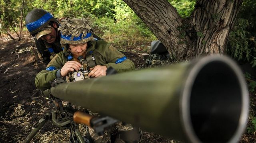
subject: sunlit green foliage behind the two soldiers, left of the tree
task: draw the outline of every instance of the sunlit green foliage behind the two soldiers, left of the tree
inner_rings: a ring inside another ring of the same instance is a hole
[[[21,1],[0,0],[1,25],[19,29]],[[109,42],[131,45],[156,39],[148,27],[122,0],[28,0],[24,4],[24,18],[34,8],[42,8],[56,18],[89,18],[95,32]],[[2,23],[3,22],[3,23]],[[23,24],[25,22],[23,21]],[[24,29],[26,30],[26,29]],[[4,31],[0,29],[0,31]]]

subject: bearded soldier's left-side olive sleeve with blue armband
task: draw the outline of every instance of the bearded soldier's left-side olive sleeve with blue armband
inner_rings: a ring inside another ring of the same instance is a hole
[[[36,75],[35,84],[38,89],[46,90],[51,87],[50,82],[56,78],[56,72],[63,67],[64,61],[61,54],[57,54],[47,65],[46,70],[42,70]]]

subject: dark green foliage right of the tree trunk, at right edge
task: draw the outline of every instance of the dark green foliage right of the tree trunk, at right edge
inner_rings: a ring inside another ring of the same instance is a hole
[[[234,59],[256,66],[256,1],[245,0],[230,33],[227,53]]]

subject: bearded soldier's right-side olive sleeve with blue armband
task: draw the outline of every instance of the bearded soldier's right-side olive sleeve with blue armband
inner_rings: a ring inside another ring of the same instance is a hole
[[[124,54],[116,50],[116,48],[114,48],[112,45],[110,45],[103,54],[105,55],[105,59],[107,61],[107,64],[104,66],[107,68],[112,67],[117,72],[135,70],[134,63],[127,59]]]

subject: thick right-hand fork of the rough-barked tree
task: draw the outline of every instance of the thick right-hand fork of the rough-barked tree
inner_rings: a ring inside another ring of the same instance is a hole
[[[198,0],[191,18],[196,55],[222,54],[242,0]]]

